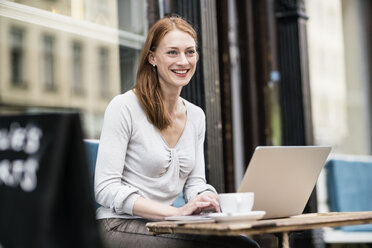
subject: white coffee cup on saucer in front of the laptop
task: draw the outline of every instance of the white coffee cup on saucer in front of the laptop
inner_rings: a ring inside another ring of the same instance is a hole
[[[218,194],[222,213],[244,214],[252,211],[254,192]]]

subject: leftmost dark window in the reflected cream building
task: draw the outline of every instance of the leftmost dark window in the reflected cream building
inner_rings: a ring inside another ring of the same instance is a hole
[[[10,65],[11,81],[14,86],[25,85],[24,81],[24,31],[20,28],[12,28],[10,31]]]

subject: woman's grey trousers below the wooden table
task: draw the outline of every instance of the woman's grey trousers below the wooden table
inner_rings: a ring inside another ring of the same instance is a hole
[[[245,236],[211,236],[188,234],[152,235],[146,229],[146,219],[101,219],[98,220],[105,247],[255,247],[260,246]]]

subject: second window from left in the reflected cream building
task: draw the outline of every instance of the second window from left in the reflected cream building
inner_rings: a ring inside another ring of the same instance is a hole
[[[54,38],[49,35],[43,37],[43,75],[46,90],[56,90],[54,79]]]

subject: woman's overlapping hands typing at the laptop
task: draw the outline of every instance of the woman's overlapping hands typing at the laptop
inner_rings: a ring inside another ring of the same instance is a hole
[[[183,207],[179,208],[178,215],[192,215],[200,214],[203,211],[220,212],[220,204],[218,202],[218,195],[213,192],[205,191],[190,200]]]

